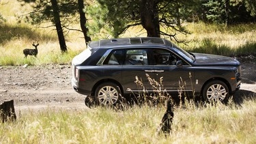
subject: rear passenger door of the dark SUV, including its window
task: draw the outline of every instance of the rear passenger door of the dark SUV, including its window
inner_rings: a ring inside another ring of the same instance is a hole
[[[122,85],[126,92],[151,91],[152,86],[147,80],[155,76],[154,66],[148,65],[147,48],[132,48],[124,51],[124,64],[122,66]],[[153,77],[155,78],[155,77]]]

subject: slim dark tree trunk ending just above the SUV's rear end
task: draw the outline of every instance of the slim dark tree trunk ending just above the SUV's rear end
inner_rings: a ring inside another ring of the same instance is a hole
[[[85,44],[87,45],[89,41],[91,41],[91,38],[87,36],[87,27],[86,27],[86,17],[85,12],[83,12],[83,9],[85,8],[85,5],[83,3],[83,0],[79,0],[79,14],[80,14],[80,26],[83,31],[83,35],[85,36]]]

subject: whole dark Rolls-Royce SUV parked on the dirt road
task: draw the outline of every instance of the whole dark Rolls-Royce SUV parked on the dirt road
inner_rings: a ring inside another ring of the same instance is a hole
[[[90,42],[74,57],[72,87],[97,104],[115,104],[130,93],[153,92],[150,76],[162,78],[162,90],[168,93],[227,100],[240,89],[240,72],[240,62],[231,57],[187,53],[162,38],[117,38]],[[135,77],[144,89],[134,83]]]

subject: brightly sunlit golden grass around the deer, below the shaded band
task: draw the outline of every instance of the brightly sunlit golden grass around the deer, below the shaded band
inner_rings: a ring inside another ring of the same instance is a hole
[[[34,56],[27,56],[23,54],[23,49],[25,48],[34,48],[32,46],[32,41],[27,41],[24,39],[19,40],[12,40],[12,44],[7,43],[1,47],[1,57],[0,57],[0,65],[10,65],[10,66],[19,66],[23,64],[29,65],[42,65],[42,64],[70,64],[72,58],[75,55],[78,55],[85,49],[81,42],[71,43],[67,42],[68,45],[68,53],[61,53],[59,49],[59,44],[57,42],[45,42],[45,41],[38,41],[38,55],[37,57]],[[81,44],[81,45],[79,45]],[[72,47],[72,48],[70,48]]]

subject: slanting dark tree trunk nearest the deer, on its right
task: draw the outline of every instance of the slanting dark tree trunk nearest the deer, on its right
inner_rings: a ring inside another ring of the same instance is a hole
[[[59,38],[59,46],[61,47],[62,52],[66,52],[68,50],[67,50],[65,38],[64,38],[64,35],[63,35],[63,30],[62,30],[62,27],[61,27],[61,20],[59,18],[59,8],[58,8],[58,5],[57,5],[57,0],[51,0],[51,3],[52,3],[52,8],[53,8],[53,16],[54,16],[54,21],[55,21],[55,27],[56,27],[58,38]]]

